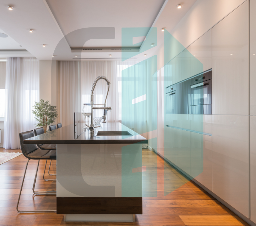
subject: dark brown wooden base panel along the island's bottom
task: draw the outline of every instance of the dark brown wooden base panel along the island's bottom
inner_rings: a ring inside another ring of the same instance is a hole
[[[142,197],[57,197],[57,214],[142,214]]]

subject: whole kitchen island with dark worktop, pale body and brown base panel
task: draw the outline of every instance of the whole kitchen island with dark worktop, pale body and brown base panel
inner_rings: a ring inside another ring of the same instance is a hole
[[[65,221],[134,221],[142,214],[144,137],[121,123],[102,123],[94,135],[74,125],[24,140],[57,144],[57,214]]]

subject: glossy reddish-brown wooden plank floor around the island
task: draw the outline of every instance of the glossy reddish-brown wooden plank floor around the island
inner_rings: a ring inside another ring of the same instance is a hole
[[[21,152],[5,150],[0,152]],[[150,191],[157,197],[143,198],[143,214],[136,215],[135,222],[64,222],[56,213],[18,213],[16,204],[27,158],[23,155],[0,165],[0,225],[248,225],[240,217],[222,205],[206,191],[180,174],[155,153],[144,149],[144,196]],[[45,161],[40,161],[36,189],[55,190],[55,181],[42,179]],[[55,162],[53,163],[55,166]],[[37,161],[31,160],[22,190],[19,208],[55,209],[56,196],[35,196],[32,192]],[[157,171],[156,171],[157,170]],[[150,172],[151,171],[151,172]],[[164,186],[164,171],[170,180]],[[51,170],[50,172],[53,172]],[[157,172],[157,180],[155,180]],[[48,176],[54,178],[54,176]],[[167,187],[166,187],[167,186]],[[164,190],[171,191],[165,196]]]

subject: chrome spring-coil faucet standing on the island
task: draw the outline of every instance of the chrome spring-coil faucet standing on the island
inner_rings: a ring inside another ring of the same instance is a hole
[[[105,103],[104,104],[96,104],[94,103],[94,89],[95,89],[95,86],[96,86],[96,83],[98,80],[100,79],[105,79],[106,82],[107,82],[107,85],[108,85],[108,91],[109,91],[109,85],[110,85],[110,81],[108,81],[108,79],[105,77],[105,76],[99,76],[95,79],[94,81],[94,84],[92,85],[92,89],[91,89],[91,124],[89,126],[89,129],[90,129],[90,134],[94,134],[94,128],[97,128],[97,127],[100,127],[100,126],[94,126],[93,124],[93,111],[94,109],[103,109],[104,110],[104,114],[102,116],[102,119],[103,119],[103,123],[106,123],[106,117],[107,117],[107,111],[110,110],[111,111],[111,107],[106,107],[106,100],[107,100],[107,96],[106,96],[106,99],[105,99]],[[107,91],[107,95],[108,95],[108,91]],[[94,105],[104,105],[104,107],[94,107]]]

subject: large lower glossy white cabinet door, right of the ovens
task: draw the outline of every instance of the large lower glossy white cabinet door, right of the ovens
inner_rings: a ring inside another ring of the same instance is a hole
[[[249,217],[249,116],[212,115],[212,191]]]

